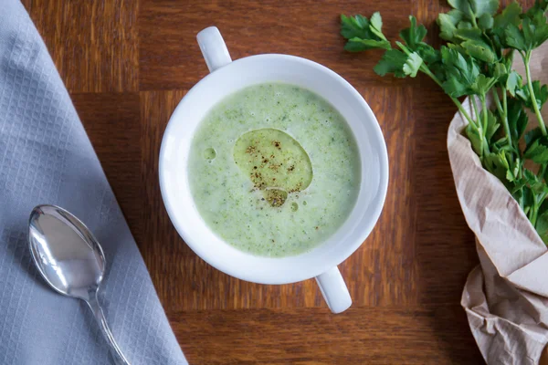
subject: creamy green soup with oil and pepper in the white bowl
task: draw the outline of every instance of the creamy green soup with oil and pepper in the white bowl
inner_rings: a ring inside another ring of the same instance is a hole
[[[298,255],[346,220],[360,156],[341,114],[307,89],[260,84],[218,103],[198,126],[188,176],[205,223],[228,244]]]

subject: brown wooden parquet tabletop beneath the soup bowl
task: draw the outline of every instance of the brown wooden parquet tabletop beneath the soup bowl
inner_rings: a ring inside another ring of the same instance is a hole
[[[193,364],[481,363],[459,306],[478,264],[448,165],[451,101],[427,78],[380,78],[377,52],[342,50],[339,15],[375,10],[395,37],[414,14],[437,33],[439,0],[24,0],[121,203],[163,308]],[[528,0],[529,1],[529,0]],[[353,307],[332,315],[313,280],[226,276],[177,235],[158,186],[174,107],[207,68],[195,42],[219,27],[233,58],[307,57],[346,78],[385,134],[390,185],[364,245],[341,265]]]

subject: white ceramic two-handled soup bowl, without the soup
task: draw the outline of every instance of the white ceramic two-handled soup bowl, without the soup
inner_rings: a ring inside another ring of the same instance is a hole
[[[332,312],[342,312],[352,299],[337,266],[370,234],[385,203],[388,184],[385,140],[373,112],[346,80],[308,59],[268,54],[232,61],[214,26],[201,31],[197,39],[211,73],[179,102],[163,135],[159,175],[167,213],[186,245],[218,270],[261,284],[315,277]],[[191,142],[208,111],[239,89],[274,81],[310,89],[328,100],[351,127],[362,168],[357,202],[340,229],[309,252],[281,258],[250,255],[214,234],[196,209],[187,177]]]

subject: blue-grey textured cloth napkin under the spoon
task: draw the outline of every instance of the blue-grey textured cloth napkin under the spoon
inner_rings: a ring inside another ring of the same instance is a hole
[[[100,302],[135,364],[185,364],[111,187],[37,29],[18,0],[0,0],[0,364],[109,364],[79,300],[46,286],[31,263],[28,214],[58,204],[107,257]]]

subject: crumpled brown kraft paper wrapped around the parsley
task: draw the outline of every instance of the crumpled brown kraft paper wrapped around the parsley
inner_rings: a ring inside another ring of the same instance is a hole
[[[514,58],[524,75],[521,57]],[[548,43],[535,51],[531,65],[532,78],[548,83]],[[463,105],[471,114],[469,99]],[[543,111],[548,120],[548,107]],[[480,265],[469,274],[461,305],[488,364],[548,364],[546,245],[504,185],[481,167],[463,135],[466,124],[459,113],[451,121],[448,154]],[[537,124],[532,115],[529,124]]]

